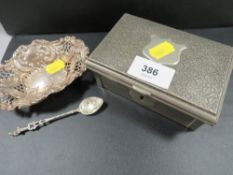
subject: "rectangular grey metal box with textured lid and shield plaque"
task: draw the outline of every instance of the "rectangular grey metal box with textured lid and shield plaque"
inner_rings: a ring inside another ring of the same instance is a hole
[[[169,86],[129,74],[136,56],[172,69]],[[232,59],[230,46],[125,14],[90,55],[87,66],[100,87],[195,129],[217,123]]]

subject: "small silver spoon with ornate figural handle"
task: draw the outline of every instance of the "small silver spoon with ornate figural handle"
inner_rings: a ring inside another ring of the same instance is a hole
[[[74,113],[81,113],[83,115],[91,115],[96,113],[103,105],[104,101],[102,98],[99,97],[87,97],[84,100],[81,101],[81,103],[79,104],[79,107],[76,109],[73,109],[71,111],[56,115],[54,117],[50,117],[50,118],[46,118],[46,119],[42,119],[39,121],[34,121],[29,123],[26,127],[17,127],[15,131],[13,132],[9,132],[8,134],[10,136],[18,136],[22,133],[25,133],[27,131],[35,131],[45,125],[48,125],[49,123],[52,123],[56,120],[60,120],[62,118],[68,117],[71,114]]]

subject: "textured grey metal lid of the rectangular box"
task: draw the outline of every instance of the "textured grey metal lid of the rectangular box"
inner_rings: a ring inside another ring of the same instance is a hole
[[[168,66],[176,70],[169,89],[143,82],[146,90],[169,106],[206,123],[216,123],[232,71],[230,46],[125,14],[90,55],[88,66],[107,68],[140,83],[127,70],[136,55],[145,57],[143,49],[153,35],[185,45],[186,49],[177,65]]]

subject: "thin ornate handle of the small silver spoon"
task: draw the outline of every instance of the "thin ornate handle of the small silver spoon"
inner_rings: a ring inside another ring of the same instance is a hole
[[[31,123],[28,123],[28,125],[26,127],[22,127],[22,128],[17,127],[15,131],[9,132],[8,134],[11,136],[18,136],[18,135],[25,133],[27,131],[35,131],[35,130],[37,130],[45,125],[48,125],[51,122],[68,117],[68,116],[70,116],[74,113],[77,113],[77,112],[79,112],[79,108],[70,110],[68,112],[65,112],[65,113],[62,113],[62,114],[59,114],[59,115],[56,115],[53,117],[45,118],[45,119],[38,120],[38,121],[33,121]]]

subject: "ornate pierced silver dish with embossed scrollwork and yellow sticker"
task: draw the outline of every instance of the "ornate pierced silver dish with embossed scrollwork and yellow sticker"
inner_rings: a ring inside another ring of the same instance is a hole
[[[0,109],[31,106],[63,90],[86,70],[88,53],[83,41],[70,36],[18,47],[0,65]]]

